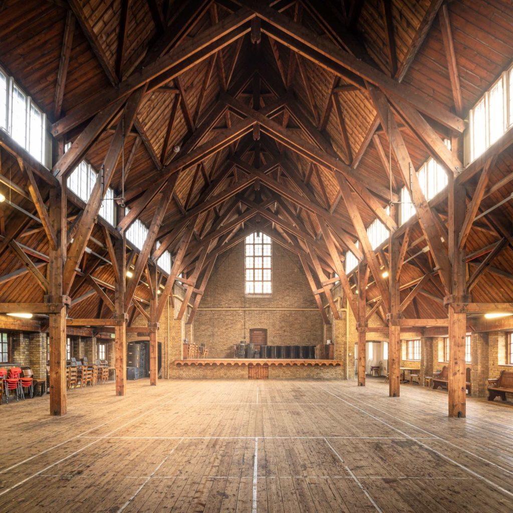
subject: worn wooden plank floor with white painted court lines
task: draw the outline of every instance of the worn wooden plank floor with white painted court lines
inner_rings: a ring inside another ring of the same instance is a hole
[[[381,380],[130,382],[0,407],[0,511],[513,510],[513,407]]]

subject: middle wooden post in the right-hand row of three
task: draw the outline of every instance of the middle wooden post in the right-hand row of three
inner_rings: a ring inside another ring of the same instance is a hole
[[[404,236],[405,241],[408,239],[408,232]],[[401,365],[401,326],[400,319],[402,317],[401,307],[401,288],[400,276],[401,265],[404,258],[403,248],[406,244],[401,245],[399,238],[395,235],[390,237],[389,265],[388,274],[390,288],[390,314],[388,315],[388,395],[390,397],[399,397],[400,378],[399,367]]]

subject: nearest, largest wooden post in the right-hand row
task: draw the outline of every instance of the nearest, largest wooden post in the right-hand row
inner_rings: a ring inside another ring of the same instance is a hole
[[[465,336],[467,314],[455,303],[469,302],[466,292],[465,250],[458,240],[465,220],[465,188],[449,179],[449,258],[452,264],[451,295],[445,298],[449,307],[449,417],[466,416]]]

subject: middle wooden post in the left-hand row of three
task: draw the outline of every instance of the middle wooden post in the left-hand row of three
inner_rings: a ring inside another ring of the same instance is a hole
[[[123,216],[125,209],[117,208],[117,219]],[[125,287],[126,287],[126,236],[114,241],[116,268],[120,279],[116,281],[114,290],[114,327],[115,337],[115,370],[116,370],[116,396],[124,396],[127,382],[127,354],[126,354],[126,327],[127,315],[125,313]]]

